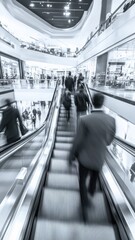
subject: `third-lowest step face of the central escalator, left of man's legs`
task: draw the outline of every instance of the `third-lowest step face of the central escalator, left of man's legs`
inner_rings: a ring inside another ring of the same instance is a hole
[[[48,173],[46,186],[48,188],[79,191],[78,176],[71,174]]]

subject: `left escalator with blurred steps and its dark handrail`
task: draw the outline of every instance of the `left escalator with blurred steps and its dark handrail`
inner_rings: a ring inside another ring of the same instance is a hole
[[[55,87],[52,102],[57,96],[57,88],[58,85]],[[52,103],[42,126],[29,132],[19,141],[0,147],[0,204],[10,192],[15,181],[20,179],[20,175],[21,177],[24,173],[28,175],[34,165],[32,162],[41,152],[46,133],[46,121],[49,118],[51,106]]]

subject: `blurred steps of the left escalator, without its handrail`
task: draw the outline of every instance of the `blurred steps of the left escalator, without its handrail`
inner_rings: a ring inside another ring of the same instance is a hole
[[[29,168],[34,156],[41,148],[44,132],[41,132],[34,139],[29,141],[22,148],[17,150],[1,162],[0,166],[0,203],[10,190],[20,170]],[[1,153],[2,155],[2,153]]]

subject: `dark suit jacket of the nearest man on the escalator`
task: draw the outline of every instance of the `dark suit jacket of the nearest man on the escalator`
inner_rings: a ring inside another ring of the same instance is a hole
[[[115,119],[101,110],[81,117],[70,161],[76,156],[84,167],[100,171],[106,157],[106,146],[111,144],[115,131]]]

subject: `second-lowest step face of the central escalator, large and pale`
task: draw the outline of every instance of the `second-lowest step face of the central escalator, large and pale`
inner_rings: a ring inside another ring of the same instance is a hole
[[[43,190],[39,216],[59,221],[82,221],[81,201],[78,191]]]

